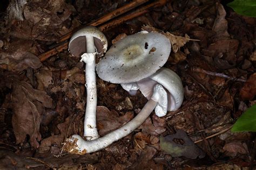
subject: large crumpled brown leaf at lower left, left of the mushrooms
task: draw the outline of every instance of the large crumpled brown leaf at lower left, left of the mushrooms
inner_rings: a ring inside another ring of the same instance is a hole
[[[12,82],[11,107],[14,111],[12,126],[16,137],[16,143],[23,143],[28,134],[32,147],[39,146],[41,140],[39,132],[44,114],[44,107],[52,107],[52,99],[45,91],[33,89],[25,81]]]

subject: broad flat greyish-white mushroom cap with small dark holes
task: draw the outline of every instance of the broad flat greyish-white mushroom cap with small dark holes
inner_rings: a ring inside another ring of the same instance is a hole
[[[163,34],[137,33],[112,45],[96,66],[98,76],[111,83],[136,82],[156,73],[171,52]]]

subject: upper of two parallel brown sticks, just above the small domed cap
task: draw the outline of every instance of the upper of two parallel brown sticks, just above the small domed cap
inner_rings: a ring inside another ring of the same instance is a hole
[[[105,16],[103,16],[103,17],[97,19],[97,20],[94,21],[94,22],[91,22],[91,23],[89,23],[89,24],[86,24],[86,25],[98,26],[98,25],[100,25],[100,24],[103,24],[103,23],[107,22],[107,21],[110,20],[110,19],[116,18],[117,16],[122,15],[123,13],[125,13],[125,12],[127,12],[127,11],[130,11],[130,10],[136,8],[137,6],[143,4],[143,3],[147,2],[147,1],[149,1],[149,0],[137,0],[137,1],[132,1],[131,3],[126,4],[126,5],[124,5],[124,6],[121,6],[120,8],[118,8],[118,9],[116,9],[116,10],[110,12],[110,13],[107,13]],[[84,26],[84,25],[83,25],[83,26]],[[83,27],[83,26],[81,26],[81,27]],[[80,28],[80,27],[79,27],[79,28]],[[69,38],[72,36],[72,34],[73,34],[74,32],[76,32],[77,30],[79,30],[79,28],[76,29],[76,30],[74,30],[74,31],[69,32],[68,34],[65,34],[62,38],[60,38],[60,39],[57,41],[57,43],[63,42],[63,41],[65,41],[65,40],[69,39]]]

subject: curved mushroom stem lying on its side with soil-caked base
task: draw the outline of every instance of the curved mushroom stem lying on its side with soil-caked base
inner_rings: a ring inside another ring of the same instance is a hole
[[[139,114],[134,117],[130,122],[126,123],[121,128],[106,134],[104,137],[92,141],[85,141],[82,137],[75,134],[65,141],[63,146],[64,150],[75,154],[91,153],[101,150],[111,145],[114,141],[117,141],[127,136],[133,130],[142,125],[144,121],[146,121],[147,117],[149,117],[151,112],[156,107],[158,101],[161,100],[160,95],[163,93],[166,94],[166,91],[160,84],[157,84],[154,87],[154,92],[150,100],[147,101]]]

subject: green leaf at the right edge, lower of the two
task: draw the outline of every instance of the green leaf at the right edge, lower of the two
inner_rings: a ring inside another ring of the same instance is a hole
[[[256,132],[256,104],[242,114],[231,129],[232,132],[252,131]]]

